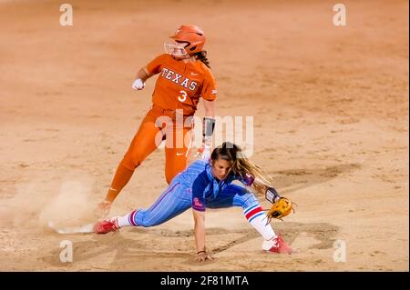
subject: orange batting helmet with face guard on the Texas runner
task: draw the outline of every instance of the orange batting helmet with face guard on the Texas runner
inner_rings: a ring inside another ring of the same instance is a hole
[[[200,27],[195,25],[180,25],[175,35],[170,36],[177,42],[188,43],[185,50],[189,55],[202,51],[205,44],[205,35]]]

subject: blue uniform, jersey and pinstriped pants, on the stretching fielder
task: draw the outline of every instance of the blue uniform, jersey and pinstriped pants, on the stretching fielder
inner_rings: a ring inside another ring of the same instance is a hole
[[[129,215],[129,223],[146,227],[160,225],[190,207],[205,211],[207,207],[241,206],[248,220],[263,214],[255,195],[246,187],[232,185],[234,180],[241,180],[243,184],[250,185],[248,181],[243,181],[234,175],[228,175],[224,180],[219,181],[211,174],[208,161],[195,161],[174,177],[169,187],[153,205],[148,209],[132,212]],[[258,210],[254,210],[255,208]]]

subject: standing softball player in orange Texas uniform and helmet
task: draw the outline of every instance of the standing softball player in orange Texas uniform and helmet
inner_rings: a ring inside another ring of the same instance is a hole
[[[170,36],[175,43],[165,44],[166,54],[159,55],[142,67],[132,84],[142,90],[145,82],[159,75],[152,94],[152,107],[142,120],[127,153],[119,163],[105,200],[97,207],[97,215],[108,215],[109,209],[122,188],[128,184],[134,170],[166,140],[165,176],[172,178],[185,169],[191,140],[192,116],[203,99],[203,142],[200,153],[209,158],[213,133],[216,82],[210,72],[210,63],[203,51],[205,35],[198,26],[181,25]],[[177,122],[177,121],[181,122]],[[188,143],[188,144],[187,144]]]

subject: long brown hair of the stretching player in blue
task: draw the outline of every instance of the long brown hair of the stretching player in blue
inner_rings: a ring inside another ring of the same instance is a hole
[[[231,142],[224,142],[213,149],[210,159],[212,161],[223,159],[230,162],[232,175],[243,179],[247,178],[247,175],[251,175],[255,179],[258,178],[258,184],[253,183],[253,187],[261,195],[265,194],[265,186],[272,185],[272,177],[265,174],[260,166],[253,164],[243,154],[241,148]]]

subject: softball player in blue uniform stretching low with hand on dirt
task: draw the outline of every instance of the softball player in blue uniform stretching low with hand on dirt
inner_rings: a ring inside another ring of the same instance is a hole
[[[232,184],[235,180],[245,186]],[[266,195],[271,202],[279,198],[261,169],[244,157],[238,146],[224,143],[212,151],[209,161],[195,161],[176,175],[167,190],[148,209],[100,221],[95,232],[106,234],[123,226],[160,225],[192,208],[197,260],[204,261],[212,259],[205,249],[206,208],[241,206],[245,218],[263,236],[262,248],[265,251],[290,254],[291,247],[266,223],[266,215],[251,190]]]

